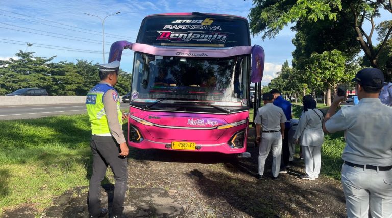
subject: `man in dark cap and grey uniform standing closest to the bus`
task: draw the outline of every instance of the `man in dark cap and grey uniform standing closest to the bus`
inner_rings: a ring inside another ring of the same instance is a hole
[[[272,150],[272,178],[277,179],[279,176],[286,116],[280,107],[273,104],[274,96],[271,93],[263,94],[263,101],[264,106],[257,110],[255,117],[256,143],[260,143],[257,178],[264,179],[265,160],[269,151]]]

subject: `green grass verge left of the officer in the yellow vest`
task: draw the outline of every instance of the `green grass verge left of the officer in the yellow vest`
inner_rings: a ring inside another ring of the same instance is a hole
[[[0,216],[20,205],[42,211],[52,198],[87,186],[92,155],[88,116],[0,122]],[[112,182],[108,171],[104,183]]]

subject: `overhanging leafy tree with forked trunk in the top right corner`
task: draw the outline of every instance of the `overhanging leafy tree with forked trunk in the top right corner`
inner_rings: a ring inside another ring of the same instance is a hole
[[[392,2],[387,0],[254,0],[254,7],[249,14],[250,27],[253,35],[263,32],[262,38],[276,36],[285,25],[289,23],[317,22],[318,20],[332,20],[345,25],[341,19],[349,20],[355,35],[352,37],[359,41],[361,49],[369,58],[371,66],[378,68],[378,57],[385,46],[392,31],[392,22],[387,22],[384,28],[378,31],[383,39],[380,49],[376,51],[372,43],[375,29],[374,18],[380,16],[380,9],[392,13]],[[362,25],[367,20],[372,28],[367,34]],[[340,43],[340,42],[337,42]]]

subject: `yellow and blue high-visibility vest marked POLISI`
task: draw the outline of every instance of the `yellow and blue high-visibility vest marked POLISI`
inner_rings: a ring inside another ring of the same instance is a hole
[[[94,86],[88,93],[86,98],[87,113],[90,117],[92,134],[106,134],[110,133],[108,119],[106,118],[103,98],[107,91],[114,90],[116,96],[113,95],[113,100],[117,98],[117,112],[118,122],[122,127],[122,112],[120,110],[120,101],[117,91],[108,84],[100,83]]]

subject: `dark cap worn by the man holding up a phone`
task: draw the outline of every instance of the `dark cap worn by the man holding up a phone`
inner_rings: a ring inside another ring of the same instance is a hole
[[[363,86],[382,88],[384,86],[384,74],[377,68],[364,68],[357,72],[352,82],[358,82]]]

